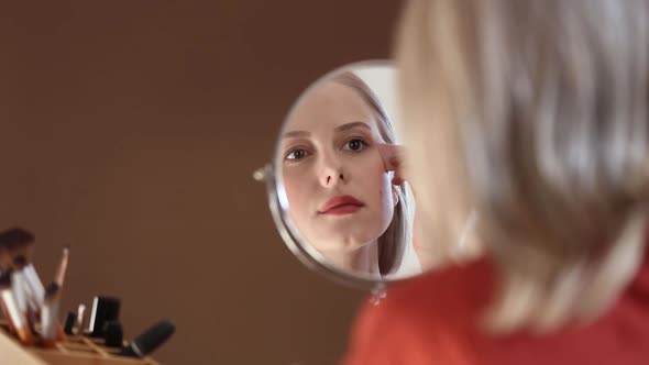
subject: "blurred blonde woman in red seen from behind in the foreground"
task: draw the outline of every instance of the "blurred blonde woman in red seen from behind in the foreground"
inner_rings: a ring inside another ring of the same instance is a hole
[[[648,364],[649,2],[415,0],[397,38],[424,237],[474,207],[484,256],[364,308],[345,364]]]

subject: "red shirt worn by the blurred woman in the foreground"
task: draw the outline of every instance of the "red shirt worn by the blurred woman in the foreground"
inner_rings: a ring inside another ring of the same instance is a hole
[[[649,253],[612,309],[550,335],[482,333],[494,285],[487,259],[394,285],[362,309],[343,364],[649,365]]]

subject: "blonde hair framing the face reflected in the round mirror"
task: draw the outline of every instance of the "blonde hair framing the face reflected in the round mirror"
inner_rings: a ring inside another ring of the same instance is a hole
[[[334,82],[344,85],[355,92],[370,106],[376,118],[378,133],[387,144],[396,144],[395,129],[385,112],[381,101],[370,87],[356,75],[344,71],[336,75]],[[387,230],[378,237],[378,268],[381,275],[393,274],[399,268],[405,247],[410,243],[413,219],[409,209],[410,196],[405,187],[394,187],[398,195],[398,202],[394,209],[392,222]]]

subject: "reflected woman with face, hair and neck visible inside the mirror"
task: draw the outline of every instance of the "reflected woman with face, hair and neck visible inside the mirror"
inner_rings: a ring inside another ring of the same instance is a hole
[[[328,262],[343,269],[395,273],[409,242],[408,198],[392,184],[380,144],[394,144],[387,114],[351,73],[309,89],[282,139],[290,217]]]

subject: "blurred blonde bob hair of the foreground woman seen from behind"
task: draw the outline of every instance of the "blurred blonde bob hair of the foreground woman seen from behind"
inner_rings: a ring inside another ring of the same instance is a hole
[[[597,318],[645,247],[649,3],[414,0],[397,35],[427,240],[474,207],[499,278],[485,323]]]

